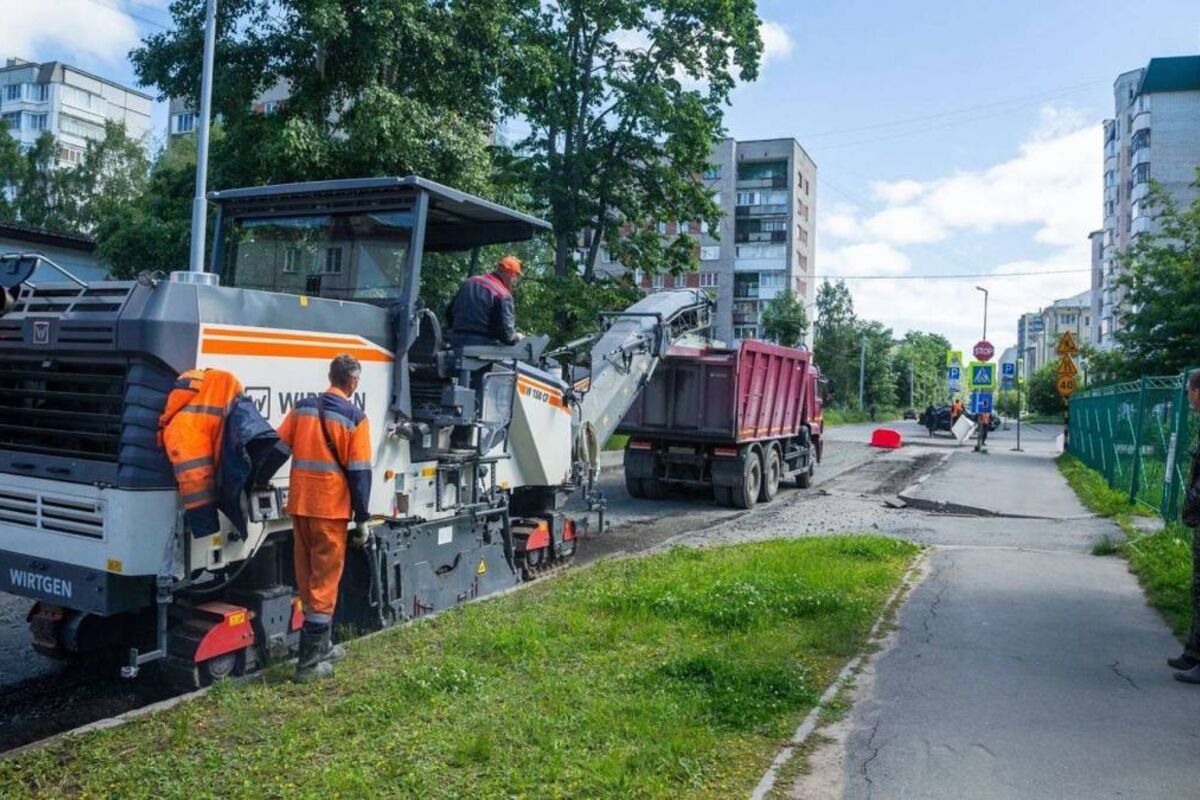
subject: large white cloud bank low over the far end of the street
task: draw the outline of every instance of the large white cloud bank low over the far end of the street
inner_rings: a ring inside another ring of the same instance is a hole
[[[982,332],[983,295],[990,291],[988,337],[1003,349],[1015,343],[1016,318],[1090,285],[1087,234],[1099,223],[1099,128],[1070,109],[1045,108],[1012,158],[986,169],[941,179],[877,182],[881,207],[868,216],[848,205],[822,211],[817,222],[817,275],[905,275],[924,270],[908,246],[970,246],[972,235],[1010,236],[1027,243],[1027,258],[989,264],[953,254],[930,271],[1022,273],[1007,278],[847,281],[860,317],[878,319],[902,335],[935,331],[970,348]],[[835,246],[826,242],[834,240]],[[840,242],[839,242],[840,240]],[[942,245],[943,240],[947,241]],[[953,241],[950,241],[953,240]],[[850,243],[847,243],[850,242]],[[1010,252],[1010,251],[1009,251]],[[962,264],[955,270],[952,261]],[[936,270],[934,269],[936,267]],[[1032,275],[1025,275],[1032,273]]]

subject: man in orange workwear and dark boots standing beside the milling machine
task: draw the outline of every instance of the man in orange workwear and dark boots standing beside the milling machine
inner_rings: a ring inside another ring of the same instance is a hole
[[[280,438],[292,447],[287,512],[296,588],[304,604],[296,680],[326,678],[344,654],[332,644],[337,584],[346,564],[347,523],[367,540],[371,497],[371,426],[350,402],[361,367],[350,355],[329,365],[329,389],[307,397],[283,420]]]

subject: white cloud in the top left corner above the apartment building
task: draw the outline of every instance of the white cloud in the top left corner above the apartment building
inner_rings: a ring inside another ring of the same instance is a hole
[[[90,0],[0,0],[0,19],[5,56],[120,62],[138,43],[132,18]]]

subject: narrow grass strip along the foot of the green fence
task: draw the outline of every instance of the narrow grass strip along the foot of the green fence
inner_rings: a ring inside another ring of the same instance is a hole
[[[1068,453],[1058,457],[1058,469],[1082,504],[1110,517],[1127,537],[1100,540],[1092,546],[1092,555],[1123,555],[1146,590],[1150,604],[1177,638],[1186,637],[1192,625],[1192,529],[1172,522],[1162,530],[1141,533],[1133,518],[1151,513],[1129,503],[1128,494],[1111,488],[1099,473]]]

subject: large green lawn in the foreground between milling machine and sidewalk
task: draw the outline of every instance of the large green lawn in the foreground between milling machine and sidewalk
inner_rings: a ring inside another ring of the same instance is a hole
[[[0,763],[0,796],[745,796],[918,548],[606,563]]]

